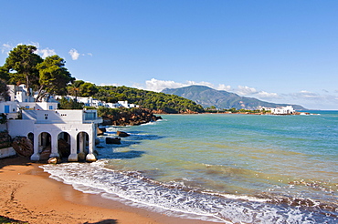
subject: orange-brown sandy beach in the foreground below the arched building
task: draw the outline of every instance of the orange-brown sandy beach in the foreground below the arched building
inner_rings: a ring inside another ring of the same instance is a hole
[[[210,223],[135,209],[48,178],[27,158],[0,159],[0,215],[27,223]]]

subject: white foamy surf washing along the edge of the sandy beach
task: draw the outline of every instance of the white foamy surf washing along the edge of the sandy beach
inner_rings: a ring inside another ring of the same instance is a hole
[[[107,160],[41,166],[51,176],[82,192],[166,215],[227,223],[333,223],[320,212],[266,200],[213,195],[168,186],[137,171],[105,168]],[[335,219],[334,219],[335,220]]]

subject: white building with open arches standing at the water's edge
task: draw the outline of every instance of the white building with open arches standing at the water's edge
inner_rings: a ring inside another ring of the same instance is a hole
[[[96,110],[23,110],[22,119],[8,120],[7,127],[10,136],[24,136],[33,141],[31,160],[39,160],[48,147],[50,158],[59,157],[58,139],[63,138],[70,145],[69,161],[78,161],[85,154],[86,160],[93,161],[96,128],[101,122]]]

